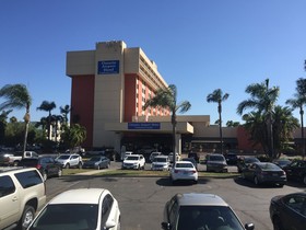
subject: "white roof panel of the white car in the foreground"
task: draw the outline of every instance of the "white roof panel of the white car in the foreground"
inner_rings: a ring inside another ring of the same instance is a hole
[[[56,196],[49,204],[98,204],[103,194],[108,193],[104,188],[78,188],[66,191]]]

